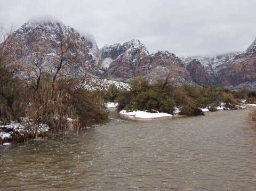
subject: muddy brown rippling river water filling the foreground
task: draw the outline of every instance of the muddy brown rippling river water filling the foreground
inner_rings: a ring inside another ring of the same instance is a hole
[[[0,148],[0,190],[256,190],[250,110],[108,123]]]

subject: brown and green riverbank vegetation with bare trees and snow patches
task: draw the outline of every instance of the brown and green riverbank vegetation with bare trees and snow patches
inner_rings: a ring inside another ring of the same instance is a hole
[[[256,101],[253,90],[174,86],[170,75],[128,83],[94,78],[91,61],[81,63],[83,73],[74,76],[70,67],[79,60],[77,36],[59,34],[54,54],[29,52],[26,60],[15,57],[20,47],[9,38],[11,34],[2,36],[0,46],[0,144],[65,135],[70,127],[78,132],[108,119],[107,102],[116,102],[122,114],[157,118],[243,109],[241,101]]]

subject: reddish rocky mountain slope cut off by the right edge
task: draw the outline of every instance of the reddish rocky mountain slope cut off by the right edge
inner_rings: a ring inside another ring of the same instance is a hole
[[[220,71],[219,86],[256,89],[256,39]]]

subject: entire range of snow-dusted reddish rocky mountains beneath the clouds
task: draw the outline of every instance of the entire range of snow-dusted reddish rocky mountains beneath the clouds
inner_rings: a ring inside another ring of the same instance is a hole
[[[89,70],[92,76],[119,80],[141,76],[155,81],[168,77],[174,85],[256,89],[256,40],[243,53],[179,58],[167,51],[149,54],[146,46],[137,39],[99,49],[92,35],[81,35],[54,19],[30,20],[14,31],[9,40],[10,44],[15,43],[15,51],[10,56],[12,61],[29,65],[31,57],[41,52],[47,57],[44,64],[49,72],[53,71],[54,65],[48,61],[57,55],[61,42],[64,45],[71,42],[76,47],[67,51],[73,57],[68,63],[71,77]]]

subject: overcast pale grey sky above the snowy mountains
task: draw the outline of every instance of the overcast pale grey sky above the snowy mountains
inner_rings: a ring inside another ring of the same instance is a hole
[[[150,53],[245,51],[256,37],[255,0],[0,0],[0,26],[52,16],[106,44],[139,39]]]

